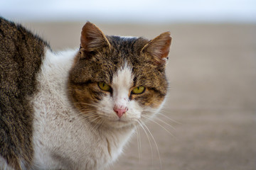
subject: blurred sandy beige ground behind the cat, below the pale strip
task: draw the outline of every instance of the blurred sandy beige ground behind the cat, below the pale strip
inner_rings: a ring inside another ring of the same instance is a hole
[[[54,50],[79,47],[82,25],[26,24]],[[256,25],[97,26],[107,35],[173,37],[168,118],[148,123],[148,137],[141,128],[110,169],[256,169]]]

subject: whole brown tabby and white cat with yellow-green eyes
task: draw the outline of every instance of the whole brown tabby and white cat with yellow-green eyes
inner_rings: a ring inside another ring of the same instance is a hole
[[[169,83],[169,32],[153,40],[82,27],[80,48],[53,52],[0,18],[0,169],[105,169]]]

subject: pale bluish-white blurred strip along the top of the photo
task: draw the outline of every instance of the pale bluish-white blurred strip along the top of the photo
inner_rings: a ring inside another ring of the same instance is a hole
[[[0,16],[18,21],[256,23],[255,0],[0,0]]]

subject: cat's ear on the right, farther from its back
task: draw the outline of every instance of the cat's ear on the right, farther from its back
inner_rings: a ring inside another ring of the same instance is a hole
[[[143,48],[142,52],[150,57],[156,64],[166,64],[171,46],[170,32],[161,33],[153,40],[150,40]]]

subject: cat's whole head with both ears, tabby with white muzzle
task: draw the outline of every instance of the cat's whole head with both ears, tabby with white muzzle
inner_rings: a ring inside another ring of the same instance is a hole
[[[167,93],[170,45],[169,32],[153,40],[107,36],[87,22],[69,76],[74,106],[90,123],[112,128],[150,118]]]

